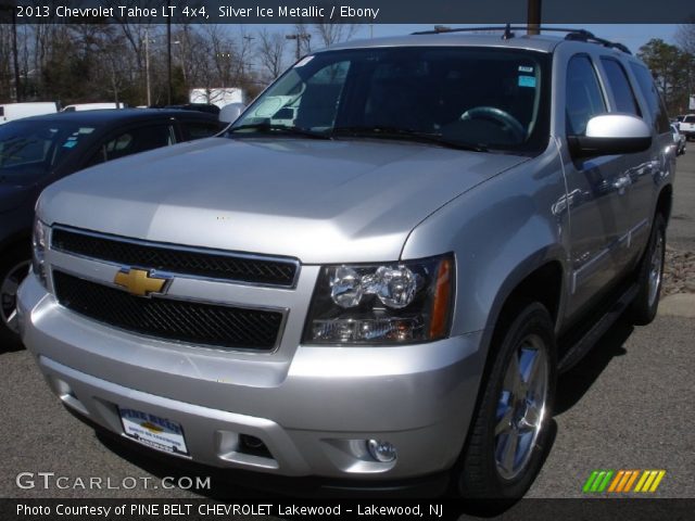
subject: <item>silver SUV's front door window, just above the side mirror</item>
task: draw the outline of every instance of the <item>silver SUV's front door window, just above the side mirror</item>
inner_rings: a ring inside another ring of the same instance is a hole
[[[573,56],[567,64],[566,96],[567,134],[583,136],[589,119],[606,112],[596,71],[589,56]]]

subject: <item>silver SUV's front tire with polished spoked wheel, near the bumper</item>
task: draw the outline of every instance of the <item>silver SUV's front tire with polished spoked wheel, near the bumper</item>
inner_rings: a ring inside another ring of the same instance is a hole
[[[533,302],[514,306],[501,322],[460,460],[458,492],[467,498],[523,496],[547,448],[557,372],[553,321]]]

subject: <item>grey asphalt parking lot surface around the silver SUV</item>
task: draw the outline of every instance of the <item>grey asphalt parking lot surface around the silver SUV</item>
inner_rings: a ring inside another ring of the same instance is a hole
[[[695,251],[694,201],[695,143],[690,143],[678,163],[669,229],[670,245],[679,251]],[[664,469],[658,497],[695,498],[694,336],[695,319],[681,316],[660,315],[647,327],[616,325],[561,379],[556,434],[530,496],[582,497],[582,485],[594,469]],[[216,475],[212,491],[195,490],[189,471],[97,436],[49,392],[26,351],[0,352],[0,395],[1,497],[250,494]],[[18,486],[22,472],[34,479],[25,474]],[[39,472],[53,478],[38,479]],[[58,482],[58,476],[66,479]],[[90,478],[100,478],[101,486],[79,486],[79,480]]]

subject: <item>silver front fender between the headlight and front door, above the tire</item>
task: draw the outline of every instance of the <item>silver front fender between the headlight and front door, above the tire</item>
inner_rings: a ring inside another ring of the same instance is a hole
[[[569,215],[563,201],[561,164],[549,147],[456,198],[413,230],[402,258],[451,251],[456,256],[453,335],[493,330],[514,289],[548,262],[560,263],[567,272]],[[559,306],[561,316],[563,300]]]

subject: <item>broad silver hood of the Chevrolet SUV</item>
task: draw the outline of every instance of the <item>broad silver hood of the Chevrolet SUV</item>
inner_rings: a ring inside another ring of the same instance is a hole
[[[383,140],[211,138],[72,175],[43,192],[39,215],[305,264],[392,260],[428,215],[523,161]]]

